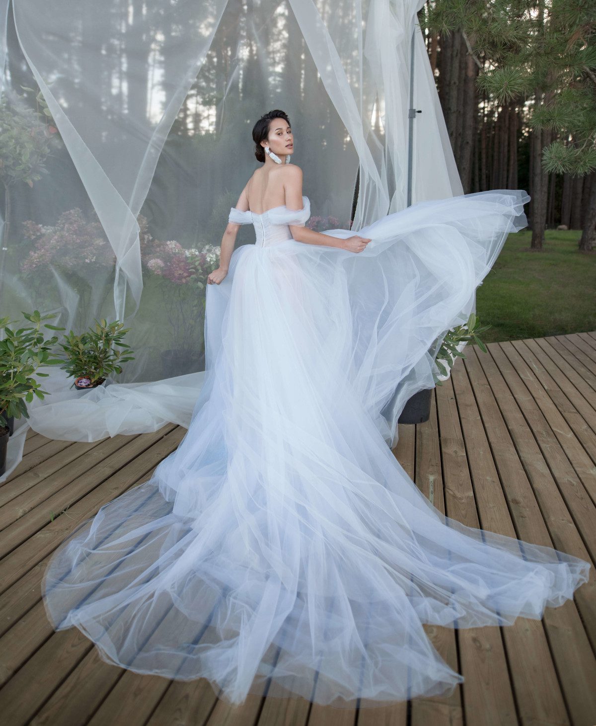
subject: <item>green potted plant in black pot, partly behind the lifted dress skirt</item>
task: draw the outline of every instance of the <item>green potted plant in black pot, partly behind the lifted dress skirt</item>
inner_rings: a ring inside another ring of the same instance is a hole
[[[478,333],[483,333],[489,327],[491,326],[483,325],[478,327],[478,318],[475,313],[470,313],[468,322],[452,327],[451,330],[447,331],[435,356],[436,370],[433,370],[433,379],[436,386],[442,386],[443,381],[449,378],[456,358],[465,358],[462,348],[465,347],[469,340],[475,340],[478,343],[478,348],[486,353],[486,346],[478,338]],[[399,415],[398,423],[423,423],[428,421],[432,392],[432,388],[422,388],[421,391],[417,391],[411,396]]]

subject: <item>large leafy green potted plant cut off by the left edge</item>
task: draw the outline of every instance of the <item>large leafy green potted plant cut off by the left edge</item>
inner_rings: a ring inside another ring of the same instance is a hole
[[[57,343],[57,336],[46,339],[40,330],[42,322],[56,317],[55,314],[42,316],[35,310],[23,312],[23,317],[33,325],[13,330],[9,326],[16,321],[0,318],[0,330],[4,331],[4,338],[0,340],[0,474],[6,471],[8,439],[14,431],[15,418],[29,417],[26,404],[33,401],[34,395],[39,399],[48,395],[33,373],[42,365],[62,363],[61,359],[52,358],[51,348]],[[44,327],[64,330],[49,323],[44,323]],[[49,374],[37,372],[36,375]]]

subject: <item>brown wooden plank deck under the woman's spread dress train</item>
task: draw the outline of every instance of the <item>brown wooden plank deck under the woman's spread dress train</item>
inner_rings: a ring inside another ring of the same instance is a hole
[[[596,560],[596,333],[466,348],[435,389],[430,420],[400,426],[395,454],[433,504],[468,526]],[[205,680],[172,682],[102,661],[77,629],[54,632],[40,582],[83,519],[146,481],[186,429],[91,444],[33,431],[0,486],[0,722],[426,726],[596,724],[594,568],[542,621],[454,630],[425,626],[465,682],[451,698],[385,709],[325,709],[249,696],[236,709]]]

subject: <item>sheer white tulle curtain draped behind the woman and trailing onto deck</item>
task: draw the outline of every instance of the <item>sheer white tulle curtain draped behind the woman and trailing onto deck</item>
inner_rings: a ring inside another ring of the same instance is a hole
[[[290,116],[317,229],[357,230],[406,206],[413,32],[422,113],[412,199],[462,192],[421,5],[0,0],[10,127],[0,141],[1,314],[20,321],[38,309],[75,333],[120,320],[134,355],[110,385],[84,393],[47,367],[51,395],[30,405],[36,431],[94,441],[189,423],[205,368],[205,280],[258,167],[250,132],[261,114]],[[253,240],[242,229],[239,243]],[[16,429],[8,473],[25,420]]]

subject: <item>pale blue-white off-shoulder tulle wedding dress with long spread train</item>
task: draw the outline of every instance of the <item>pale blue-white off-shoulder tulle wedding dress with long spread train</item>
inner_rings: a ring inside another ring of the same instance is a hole
[[[371,706],[464,680],[423,623],[507,625],[573,597],[588,562],[446,517],[388,446],[527,200],[419,203],[359,230],[362,253],[293,240],[307,197],[300,211],[232,208],[256,244],[207,286],[188,431],[54,553],[54,628],[139,673],[205,677],[229,703],[270,678],[274,696]]]

